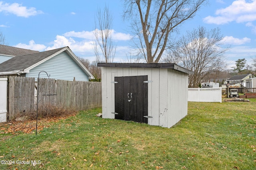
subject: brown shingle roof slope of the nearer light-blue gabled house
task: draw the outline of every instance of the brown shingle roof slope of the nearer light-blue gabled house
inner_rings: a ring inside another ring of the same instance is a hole
[[[10,72],[14,70],[24,70],[43,59],[46,59],[47,57],[50,57],[51,55],[57,53],[61,49],[64,49],[66,47],[62,47],[59,49],[44,51],[40,53],[34,53],[29,55],[23,55],[23,56],[16,56],[12,59],[9,59],[3,63],[0,64],[0,72]]]

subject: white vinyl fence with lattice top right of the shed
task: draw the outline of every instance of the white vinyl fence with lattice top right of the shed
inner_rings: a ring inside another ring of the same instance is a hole
[[[222,102],[221,88],[188,88],[189,102]]]

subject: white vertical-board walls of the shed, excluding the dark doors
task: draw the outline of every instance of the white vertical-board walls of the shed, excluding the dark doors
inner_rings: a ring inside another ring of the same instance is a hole
[[[102,67],[102,118],[114,119],[114,77],[143,76],[148,80],[149,125],[172,127],[187,115],[188,74],[164,68]]]

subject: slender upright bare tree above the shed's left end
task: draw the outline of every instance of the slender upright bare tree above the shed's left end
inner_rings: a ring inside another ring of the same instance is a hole
[[[116,45],[111,39],[113,16],[105,6],[103,12],[98,9],[95,19],[94,54],[97,62],[112,63],[116,53]]]

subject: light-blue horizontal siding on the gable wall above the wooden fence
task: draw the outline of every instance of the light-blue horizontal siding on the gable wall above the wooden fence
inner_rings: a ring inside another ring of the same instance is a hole
[[[50,78],[61,80],[88,81],[88,76],[83,72],[82,68],[78,67],[76,62],[68,56],[66,52],[62,52],[48,61],[32,68],[27,77],[38,77],[40,71],[46,71],[50,74]],[[40,78],[48,78],[45,73],[40,74]]]

